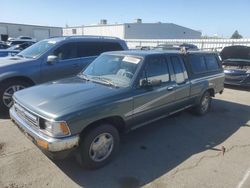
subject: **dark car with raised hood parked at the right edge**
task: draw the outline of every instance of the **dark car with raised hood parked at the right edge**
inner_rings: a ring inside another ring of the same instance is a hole
[[[221,51],[225,84],[250,87],[250,47],[228,46]]]

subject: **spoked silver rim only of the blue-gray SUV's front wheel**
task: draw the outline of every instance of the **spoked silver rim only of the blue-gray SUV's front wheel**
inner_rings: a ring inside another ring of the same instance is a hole
[[[16,91],[24,89],[22,85],[13,85],[8,87],[3,93],[3,103],[6,107],[10,108],[13,105],[12,96]]]

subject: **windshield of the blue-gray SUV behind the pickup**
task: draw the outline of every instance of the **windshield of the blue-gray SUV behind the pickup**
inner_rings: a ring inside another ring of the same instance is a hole
[[[26,57],[26,58],[37,58],[43,53],[47,52],[49,49],[51,49],[56,43],[57,43],[57,40],[54,40],[54,39],[43,40],[26,48],[22,52],[18,53],[17,56]]]

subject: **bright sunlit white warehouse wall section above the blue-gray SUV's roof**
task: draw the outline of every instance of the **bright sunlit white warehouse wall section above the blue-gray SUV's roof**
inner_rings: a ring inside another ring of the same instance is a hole
[[[124,25],[85,26],[84,35],[111,36],[124,39]]]

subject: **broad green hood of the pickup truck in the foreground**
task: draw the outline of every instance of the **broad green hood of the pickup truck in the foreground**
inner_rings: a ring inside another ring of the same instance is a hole
[[[121,90],[73,77],[21,90],[14,98],[39,115],[56,119],[103,103]]]

